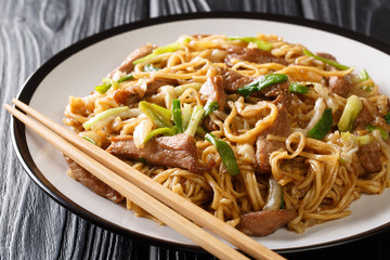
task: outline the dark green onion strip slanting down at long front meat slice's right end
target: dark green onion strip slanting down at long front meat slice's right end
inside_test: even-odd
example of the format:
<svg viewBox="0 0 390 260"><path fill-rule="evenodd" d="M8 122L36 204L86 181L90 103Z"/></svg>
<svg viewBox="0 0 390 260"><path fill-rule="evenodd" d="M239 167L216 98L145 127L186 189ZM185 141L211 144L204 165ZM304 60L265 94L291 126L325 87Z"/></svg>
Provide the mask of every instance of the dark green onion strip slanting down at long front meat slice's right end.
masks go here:
<svg viewBox="0 0 390 260"><path fill-rule="evenodd" d="M231 176L236 176L239 173L238 165L233 153L233 150L229 144L220 139L218 139L212 133L207 133L205 139L216 145L218 153L221 156L223 166L226 168L226 171Z"/></svg>

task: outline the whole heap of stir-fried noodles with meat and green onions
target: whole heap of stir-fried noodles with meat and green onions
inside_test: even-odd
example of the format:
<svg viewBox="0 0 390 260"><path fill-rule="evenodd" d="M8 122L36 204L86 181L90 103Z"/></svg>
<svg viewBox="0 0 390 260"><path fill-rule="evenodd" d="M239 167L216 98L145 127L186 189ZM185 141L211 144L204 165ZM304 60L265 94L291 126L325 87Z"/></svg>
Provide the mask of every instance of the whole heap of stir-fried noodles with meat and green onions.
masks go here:
<svg viewBox="0 0 390 260"><path fill-rule="evenodd" d="M282 219L278 225L287 222L302 233L349 216L349 205L362 193L380 194L388 185L390 155L389 99L375 81L366 72L329 65L336 62L329 54L304 50L264 35L181 36L167 47L148 44L90 95L70 96L64 122L233 226L242 229L249 212L278 211L282 217L270 214L271 222ZM282 79L242 91L265 75ZM211 103L218 108L204 115ZM113 109L118 107L126 109ZM98 117L105 112L110 113ZM207 133L229 144L238 174L224 165L226 155ZM164 146L183 134L191 136L178 141L184 152ZM123 143L132 145L131 153ZM156 145L157 152L148 151ZM171 152L177 161L147 157ZM153 218L126 199L136 216ZM249 234L273 232L245 225Z"/></svg>

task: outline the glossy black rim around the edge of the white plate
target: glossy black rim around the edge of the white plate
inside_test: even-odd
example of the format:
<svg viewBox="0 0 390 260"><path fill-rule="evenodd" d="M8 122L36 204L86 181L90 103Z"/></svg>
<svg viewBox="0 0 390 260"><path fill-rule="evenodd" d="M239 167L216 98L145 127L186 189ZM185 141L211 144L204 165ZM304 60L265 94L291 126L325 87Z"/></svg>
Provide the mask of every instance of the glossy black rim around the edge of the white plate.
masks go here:
<svg viewBox="0 0 390 260"><path fill-rule="evenodd" d="M123 25L119 25L109 29L105 29L98 34L91 35L81 39L70 46L64 48L53 56L51 56L48 61L46 61L42 65L36 69L30 77L23 83L18 94L16 95L18 100L29 104L35 91L38 89L40 82L62 62L67 60L73 54L82 51L83 49L98 43L102 40L108 39L110 37L120 35L122 32L131 31L134 29L140 29L147 26L166 24L170 22L180 22L180 21L194 21L194 20L206 20L206 18L231 18L231 20L256 20L256 21L270 21L270 22L280 22L280 23L288 23L294 25L299 25L308 28L314 28L326 32L332 32L335 35L339 35L349 39L353 39L358 42L362 42L366 46L373 47L376 50L385 52L390 55L390 44L387 44L380 40L374 39L366 35L363 35L358 31L353 31L347 28L342 28L336 25L326 24L324 22L307 20L302 17L281 15L281 14L269 14L269 13L257 13L257 12L208 12L208 13L190 13L190 14L177 14L177 15L167 15L160 17L146 18L138 22L131 22ZM25 126L11 117L11 138L13 148L16 153L16 156L22 164L24 170L29 176L29 178L46 193L48 194L54 202L60 204L65 209L75 213L76 216L87 220L90 223L93 223L104 230L110 231L115 234L122 235L130 238L141 238L146 240L147 243L161 246L165 248L179 249L179 250L187 250L195 252L205 252L203 248L196 245L187 245L177 242L167 242L161 238L156 238L150 235L145 235L135 231L123 229L108 220L105 220L91 211L82 208L77 205L75 202L67 198L64 194L62 194L53 184L51 184L47 178L42 174L39 168L35 165L34 159L28 151L27 142L26 142L26 131ZM372 229L366 232L362 232L352 236L348 236L344 238L340 238L333 242L320 243L310 246L302 247L294 247L294 248L280 248L275 249L275 251L280 253L290 253L290 252L300 252L315 249L323 249L328 247L335 247L342 244L352 243L355 240L360 240L369 236L374 236L385 231L390 230L390 221L380 226Z"/></svg>

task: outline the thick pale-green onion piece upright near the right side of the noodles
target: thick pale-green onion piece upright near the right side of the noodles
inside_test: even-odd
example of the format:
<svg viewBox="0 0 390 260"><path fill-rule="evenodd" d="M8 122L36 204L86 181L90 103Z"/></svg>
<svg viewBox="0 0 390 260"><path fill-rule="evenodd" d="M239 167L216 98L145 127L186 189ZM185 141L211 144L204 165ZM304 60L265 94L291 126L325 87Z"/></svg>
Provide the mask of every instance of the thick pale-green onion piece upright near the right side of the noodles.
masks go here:
<svg viewBox="0 0 390 260"><path fill-rule="evenodd" d="M362 101L356 95L351 95L347 99L347 104L342 110L338 129L340 132L351 131L353 121L356 119L359 113L363 107Z"/></svg>

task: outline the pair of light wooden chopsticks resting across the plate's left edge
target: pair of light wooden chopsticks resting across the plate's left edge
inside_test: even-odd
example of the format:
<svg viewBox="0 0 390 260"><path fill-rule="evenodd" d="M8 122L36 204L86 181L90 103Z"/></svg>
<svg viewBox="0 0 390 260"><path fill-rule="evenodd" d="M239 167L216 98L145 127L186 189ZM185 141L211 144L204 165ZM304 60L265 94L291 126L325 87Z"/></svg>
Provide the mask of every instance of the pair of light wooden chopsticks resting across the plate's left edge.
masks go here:
<svg viewBox="0 0 390 260"><path fill-rule="evenodd" d="M54 147L93 173L101 181L118 191L121 195L130 198L134 204L219 259L248 259L220 238L236 246L239 250L255 259L285 259L186 200L184 197L153 181L117 157L52 121L23 102L13 99L12 103L30 117L9 104L4 104L4 108ZM200 226L218 235L220 238Z"/></svg>

